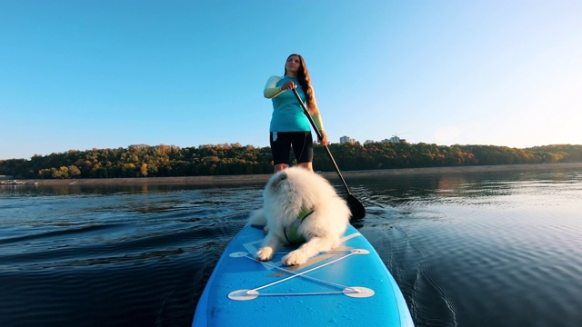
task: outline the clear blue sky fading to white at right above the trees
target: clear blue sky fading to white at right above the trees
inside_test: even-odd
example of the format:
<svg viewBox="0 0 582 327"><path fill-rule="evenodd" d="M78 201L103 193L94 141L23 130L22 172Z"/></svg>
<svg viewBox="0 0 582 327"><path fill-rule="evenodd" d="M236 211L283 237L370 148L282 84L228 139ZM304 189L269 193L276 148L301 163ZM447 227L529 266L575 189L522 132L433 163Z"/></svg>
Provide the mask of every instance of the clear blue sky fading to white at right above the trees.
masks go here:
<svg viewBox="0 0 582 327"><path fill-rule="evenodd" d="M582 2L0 0L0 159L268 145L306 59L326 133L582 144Z"/></svg>

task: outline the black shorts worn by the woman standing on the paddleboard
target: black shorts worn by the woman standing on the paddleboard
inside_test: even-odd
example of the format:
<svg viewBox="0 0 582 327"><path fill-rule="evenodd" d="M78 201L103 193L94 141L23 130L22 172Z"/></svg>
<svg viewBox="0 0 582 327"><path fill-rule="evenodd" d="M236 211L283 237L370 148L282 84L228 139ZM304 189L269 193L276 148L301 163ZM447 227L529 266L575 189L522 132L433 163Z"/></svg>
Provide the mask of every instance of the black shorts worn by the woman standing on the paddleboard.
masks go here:
<svg viewBox="0 0 582 327"><path fill-rule="evenodd" d="M289 164L289 151L293 152L297 163L313 162L313 137L311 132L271 132L271 152L275 164Z"/></svg>

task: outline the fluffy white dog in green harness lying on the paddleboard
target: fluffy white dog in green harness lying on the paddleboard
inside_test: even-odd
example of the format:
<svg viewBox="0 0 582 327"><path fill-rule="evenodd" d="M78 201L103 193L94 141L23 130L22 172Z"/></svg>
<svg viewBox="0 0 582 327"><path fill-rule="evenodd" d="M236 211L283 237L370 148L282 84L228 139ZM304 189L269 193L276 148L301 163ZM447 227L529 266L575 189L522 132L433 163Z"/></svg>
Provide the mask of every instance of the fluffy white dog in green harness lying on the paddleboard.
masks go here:
<svg viewBox="0 0 582 327"><path fill-rule="evenodd" d="M283 263L306 263L339 245L350 214L346 201L322 176L300 167L276 173L263 191L263 208L249 218L250 224L265 225L266 236L256 259L269 261L283 245L303 243Z"/></svg>

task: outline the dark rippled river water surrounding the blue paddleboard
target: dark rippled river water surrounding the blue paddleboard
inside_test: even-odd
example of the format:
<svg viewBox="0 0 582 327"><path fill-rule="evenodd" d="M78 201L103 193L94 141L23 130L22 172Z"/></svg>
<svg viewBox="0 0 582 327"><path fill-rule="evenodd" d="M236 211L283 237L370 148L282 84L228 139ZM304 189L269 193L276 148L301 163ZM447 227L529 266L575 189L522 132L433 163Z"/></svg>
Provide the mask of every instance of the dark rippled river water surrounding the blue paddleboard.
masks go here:
<svg viewBox="0 0 582 327"><path fill-rule="evenodd" d="M416 326L582 326L582 171L347 183ZM261 187L1 186L0 326L189 325Z"/></svg>

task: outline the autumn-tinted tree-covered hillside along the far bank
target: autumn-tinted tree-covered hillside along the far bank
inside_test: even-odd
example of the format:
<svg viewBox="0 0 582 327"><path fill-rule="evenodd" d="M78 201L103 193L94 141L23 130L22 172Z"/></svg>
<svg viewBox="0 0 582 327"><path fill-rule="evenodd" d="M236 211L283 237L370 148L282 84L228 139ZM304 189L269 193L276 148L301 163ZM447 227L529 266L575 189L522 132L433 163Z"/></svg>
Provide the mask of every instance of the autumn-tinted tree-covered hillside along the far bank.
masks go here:
<svg viewBox="0 0 582 327"><path fill-rule="evenodd" d="M445 167L463 165L582 162L582 145L527 149L494 145L330 144L342 170ZM293 156L292 156L293 157ZM314 169L335 171L325 149L314 148ZM16 179L119 178L272 173L269 147L208 144L130 145L127 148L71 150L35 155L30 160L0 160L0 175Z"/></svg>

